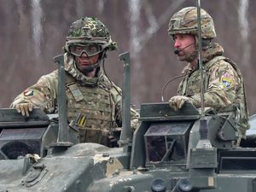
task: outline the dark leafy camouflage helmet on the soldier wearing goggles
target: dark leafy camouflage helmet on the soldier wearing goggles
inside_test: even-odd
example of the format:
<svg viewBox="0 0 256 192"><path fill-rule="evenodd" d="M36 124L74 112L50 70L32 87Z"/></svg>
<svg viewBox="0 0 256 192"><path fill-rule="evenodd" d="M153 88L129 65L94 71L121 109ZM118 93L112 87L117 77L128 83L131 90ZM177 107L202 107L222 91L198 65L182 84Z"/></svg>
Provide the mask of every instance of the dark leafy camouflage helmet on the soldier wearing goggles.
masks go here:
<svg viewBox="0 0 256 192"><path fill-rule="evenodd" d="M94 17L83 17L70 26L65 50L70 52L70 46L81 44L97 44L100 46L98 53L103 50L117 49L117 44L112 41L108 28Z"/></svg>

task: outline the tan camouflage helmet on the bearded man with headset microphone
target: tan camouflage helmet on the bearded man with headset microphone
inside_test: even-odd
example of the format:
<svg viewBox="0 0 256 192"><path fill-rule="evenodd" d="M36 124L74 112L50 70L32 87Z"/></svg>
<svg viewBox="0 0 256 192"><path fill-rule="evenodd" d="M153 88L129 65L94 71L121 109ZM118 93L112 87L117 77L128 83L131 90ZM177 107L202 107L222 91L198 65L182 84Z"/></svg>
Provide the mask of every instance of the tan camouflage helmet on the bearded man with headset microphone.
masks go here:
<svg viewBox="0 0 256 192"><path fill-rule="evenodd" d="M197 36L197 8L188 7L179 10L172 16L169 26L169 35L192 34ZM211 15L201 9L201 38L212 39L216 37L214 23Z"/></svg>

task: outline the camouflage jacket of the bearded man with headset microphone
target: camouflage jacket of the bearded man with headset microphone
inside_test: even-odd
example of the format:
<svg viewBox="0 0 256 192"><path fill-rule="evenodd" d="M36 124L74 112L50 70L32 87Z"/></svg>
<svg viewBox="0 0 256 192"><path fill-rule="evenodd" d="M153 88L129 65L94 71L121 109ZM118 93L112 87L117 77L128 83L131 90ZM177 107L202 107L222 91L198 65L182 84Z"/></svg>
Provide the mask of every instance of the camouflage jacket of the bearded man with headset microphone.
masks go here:
<svg viewBox="0 0 256 192"><path fill-rule="evenodd" d="M203 55L205 71L205 106L218 113L235 111L237 128L241 137L249 129L245 88L241 72L236 63L222 56L224 49L212 44ZM184 78L179 84L177 94L194 99L196 108L201 108L200 70L192 70L190 64L183 69Z"/></svg>

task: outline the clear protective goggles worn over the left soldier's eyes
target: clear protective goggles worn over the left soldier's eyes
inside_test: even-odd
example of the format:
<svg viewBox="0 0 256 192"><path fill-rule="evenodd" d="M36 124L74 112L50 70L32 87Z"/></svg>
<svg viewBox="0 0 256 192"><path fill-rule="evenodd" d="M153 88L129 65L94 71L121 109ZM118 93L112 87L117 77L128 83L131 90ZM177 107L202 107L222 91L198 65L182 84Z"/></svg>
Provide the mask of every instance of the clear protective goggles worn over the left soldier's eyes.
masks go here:
<svg viewBox="0 0 256 192"><path fill-rule="evenodd" d="M102 52L102 46L99 44L72 44L69 46L69 50L75 56L81 56L83 53L93 56Z"/></svg>

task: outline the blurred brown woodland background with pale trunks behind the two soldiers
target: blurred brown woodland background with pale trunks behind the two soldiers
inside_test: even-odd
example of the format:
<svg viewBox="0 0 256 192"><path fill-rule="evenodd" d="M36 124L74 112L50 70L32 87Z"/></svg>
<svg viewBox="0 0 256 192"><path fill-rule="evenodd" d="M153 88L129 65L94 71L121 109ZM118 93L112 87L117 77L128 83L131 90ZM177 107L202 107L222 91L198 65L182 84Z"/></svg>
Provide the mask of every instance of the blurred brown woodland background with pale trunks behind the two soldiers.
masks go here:
<svg viewBox="0 0 256 192"><path fill-rule="evenodd" d="M177 76L185 63L173 54L173 42L167 35L171 16L194 0L0 0L0 108L9 108L15 96L36 83L57 66L55 55L63 53L67 31L74 20L94 16L108 26L117 51L108 52L105 61L108 77L122 86L123 63L118 55L131 54L131 102L160 102L161 90ZM247 90L250 114L256 112L256 1L202 0L201 6L212 15L217 38L225 55L241 68ZM165 90L167 101L176 95L180 79Z"/></svg>

